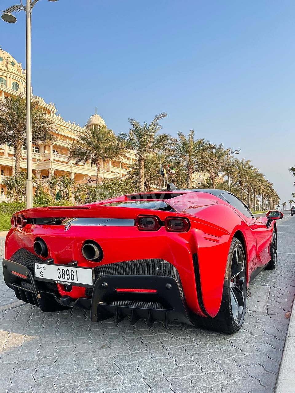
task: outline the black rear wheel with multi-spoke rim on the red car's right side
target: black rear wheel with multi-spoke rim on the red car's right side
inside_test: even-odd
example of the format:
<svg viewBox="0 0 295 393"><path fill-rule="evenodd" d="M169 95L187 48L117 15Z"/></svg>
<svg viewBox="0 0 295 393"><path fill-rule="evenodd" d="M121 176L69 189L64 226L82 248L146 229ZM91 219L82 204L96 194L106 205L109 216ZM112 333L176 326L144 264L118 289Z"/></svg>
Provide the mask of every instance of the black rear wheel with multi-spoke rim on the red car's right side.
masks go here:
<svg viewBox="0 0 295 393"><path fill-rule="evenodd" d="M245 316L246 293L245 253L242 243L234 237L227 258L220 309L214 318L202 318L202 325L228 334L238 332Z"/></svg>

